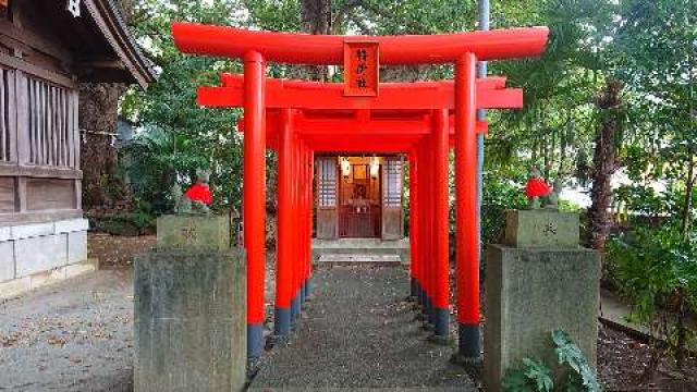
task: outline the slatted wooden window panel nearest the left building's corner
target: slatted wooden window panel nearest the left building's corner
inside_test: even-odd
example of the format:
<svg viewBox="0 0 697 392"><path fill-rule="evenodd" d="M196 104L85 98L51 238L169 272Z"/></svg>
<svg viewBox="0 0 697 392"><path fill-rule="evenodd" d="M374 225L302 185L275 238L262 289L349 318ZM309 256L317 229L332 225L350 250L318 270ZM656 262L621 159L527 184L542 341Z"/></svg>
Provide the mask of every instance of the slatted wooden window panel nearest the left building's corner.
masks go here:
<svg viewBox="0 0 697 392"><path fill-rule="evenodd" d="M28 78L29 162L39 166L74 166L76 118L71 90Z"/></svg>

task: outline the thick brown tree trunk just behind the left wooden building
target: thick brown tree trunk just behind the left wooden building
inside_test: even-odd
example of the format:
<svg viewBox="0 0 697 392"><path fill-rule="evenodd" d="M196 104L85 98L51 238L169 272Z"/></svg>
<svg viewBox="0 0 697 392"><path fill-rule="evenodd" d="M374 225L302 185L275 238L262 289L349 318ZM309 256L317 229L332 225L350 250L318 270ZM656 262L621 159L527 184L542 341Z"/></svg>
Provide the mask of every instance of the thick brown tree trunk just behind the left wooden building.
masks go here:
<svg viewBox="0 0 697 392"><path fill-rule="evenodd" d="M117 132L122 84L84 83L80 86L81 167L83 170L83 205L85 209L112 207L127 198L117 177Z"/></svg>

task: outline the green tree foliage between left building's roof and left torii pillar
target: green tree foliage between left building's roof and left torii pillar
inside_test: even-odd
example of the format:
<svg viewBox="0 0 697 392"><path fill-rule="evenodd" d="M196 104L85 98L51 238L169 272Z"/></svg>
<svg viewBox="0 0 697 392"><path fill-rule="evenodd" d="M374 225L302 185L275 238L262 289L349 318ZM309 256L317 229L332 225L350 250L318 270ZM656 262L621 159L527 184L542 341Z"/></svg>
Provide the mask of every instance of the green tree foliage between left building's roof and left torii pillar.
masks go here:
<svg viewBox="0 0 697 392"><path fill-rule="evenodd" d="M200 108L196 89L217 85L220 72L239 72L234 61L184 56L171 38L173 20L212 24L241 24L237 1L179 2L139 0L134 5L133 30L159 71L146 91L130 90L121 114L140 124L133 144L124 149L122 170L138 200L154 213L172 206L171 186L184 188L195 170L211 170L215 207L240 208L242 137L240 110Z"/></svg>

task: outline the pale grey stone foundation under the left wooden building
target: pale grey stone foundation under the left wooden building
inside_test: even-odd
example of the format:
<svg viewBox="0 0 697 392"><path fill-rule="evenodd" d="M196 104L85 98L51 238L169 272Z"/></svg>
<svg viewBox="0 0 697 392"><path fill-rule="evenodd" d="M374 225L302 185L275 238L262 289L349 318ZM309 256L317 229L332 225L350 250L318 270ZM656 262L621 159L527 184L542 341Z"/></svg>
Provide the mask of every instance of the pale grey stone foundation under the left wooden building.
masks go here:
<svg viewBox="0 0 697 392"><path fill-rule="evenodd" d="M0 298L95 269L85 219L0 228Z"/></svg>

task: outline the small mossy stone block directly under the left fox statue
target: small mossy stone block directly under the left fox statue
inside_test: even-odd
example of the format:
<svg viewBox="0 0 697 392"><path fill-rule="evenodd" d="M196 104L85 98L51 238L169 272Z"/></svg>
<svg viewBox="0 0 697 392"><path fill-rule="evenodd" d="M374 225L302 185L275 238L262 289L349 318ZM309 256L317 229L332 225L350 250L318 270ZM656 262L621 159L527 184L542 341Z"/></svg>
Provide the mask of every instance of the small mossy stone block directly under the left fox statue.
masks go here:
<svg viewBox="0 0 697 392"><path fill-rule="evenodd" d="M157 219L158 249L230 248L230 217L170 215Z"/></svg>

